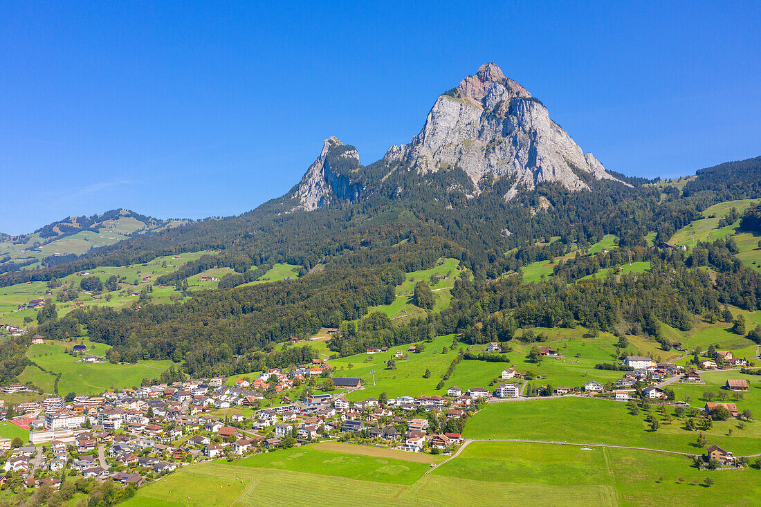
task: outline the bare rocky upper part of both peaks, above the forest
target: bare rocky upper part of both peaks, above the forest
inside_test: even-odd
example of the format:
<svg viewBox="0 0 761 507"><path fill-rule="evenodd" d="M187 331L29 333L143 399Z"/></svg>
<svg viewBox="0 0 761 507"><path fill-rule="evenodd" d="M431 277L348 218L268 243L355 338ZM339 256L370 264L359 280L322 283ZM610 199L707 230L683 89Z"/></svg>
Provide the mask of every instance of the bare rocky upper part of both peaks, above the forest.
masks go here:
<svg viewBox="0 0 761 507"><path fill-rule="evenodd" d="M310 211L335 199L360 199L395 171L428 174L452 167L472 181L471 189L462 189L469 196L480 193L484 178L509 178L506 200L540 183L568 190L589 190L595 180L630 186L605 171L594 155L584 154L542 102L493 62L441 94L419 134L409 144L391 146L382 163L380 180L362 181L357 151L331 137L291 197Z"/></svg>

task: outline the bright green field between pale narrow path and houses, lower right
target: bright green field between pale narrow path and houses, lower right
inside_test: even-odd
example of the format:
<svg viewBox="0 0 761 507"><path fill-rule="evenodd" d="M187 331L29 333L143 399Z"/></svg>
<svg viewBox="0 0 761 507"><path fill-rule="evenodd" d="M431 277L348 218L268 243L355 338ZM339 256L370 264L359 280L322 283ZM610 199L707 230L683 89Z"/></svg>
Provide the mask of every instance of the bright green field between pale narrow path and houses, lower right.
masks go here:
<svg viewBox="0 0 761 507"><path fill-rule="evenodd" d="M740 405L741 410L741 405ZM653 411L653 413L655 413ZM463 432L466 438L525 438L584 444L633 445L635 447L700 453L697 432L683 429L683 419L661 423L652 432L645 411L629 413L626 403L592 398L564 397L552 400L492 403L476 413ZM709 445L716 444L736 455L761 452L761 423L715 422L704 432ZM733 429L732 435L728 430Z"/></svg>

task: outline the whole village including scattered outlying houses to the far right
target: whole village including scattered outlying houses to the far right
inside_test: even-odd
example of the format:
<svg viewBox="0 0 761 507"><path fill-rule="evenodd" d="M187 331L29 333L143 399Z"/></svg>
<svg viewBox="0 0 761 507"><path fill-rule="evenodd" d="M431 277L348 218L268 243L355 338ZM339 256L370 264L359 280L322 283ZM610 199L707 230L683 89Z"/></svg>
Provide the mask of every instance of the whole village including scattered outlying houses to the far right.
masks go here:
<svg viewBox="0 0 761 507"><path fill-rule="evenodd" d="M34 336L33 340L39 343L43 339ZM84 345L75 344L73 349L83 362L99 360L87 356ZM368 349L367 354L387 350ZM486 347L487 352L496 350L498 343ZM407 352L416 353L416 346L409 346ZM539 347L539 352L543 357L559 356L558 351L546 346ZM396 351L400 357L403 353ZM733 364L731 352L717 354L722 362ZM487 403L570 396L683 407L687 403L675 400L667 386L674 381L702 382L699 371L683 371L682 366L657 363L644 356L627 356L619 367L626 371L615 384L590 380L575 387L537 386L536 391L524 395L527 381L540 378L507 367L493 389L451 385L446 396L387 398L383 393L377 399L351 402L346 394L364 389L361 378L334 376L324 359L314 359L312 364L298 365L291 371L269 368L252 374L253 380L189 379L95 397L79 395L65 400L56 396L15 403L8 407L8 413L14 414L10 421L29 430L29 445L21 438L0 439L0 450L5 453L0 458L5 471L0 486L55 488L63 474L139 486L192 462L234 461L320 440L452 454L463 444L461 433L466 420ZM305 383L311 388L304 396L288 396ZM706 403L693 415L705 420L716 414L743 419L747 413L738 410L736 403L728 403L728 398L734 394L740 400L737 393L747 389L747 381L729 379L721 393L724 396L716 403ZM27 390L23 384L11 384L2 393ZM281 404L260 408L272 401L272 394L279 396ZM716 445L699 460L707 467L742 466L731 451Z"/></svg>

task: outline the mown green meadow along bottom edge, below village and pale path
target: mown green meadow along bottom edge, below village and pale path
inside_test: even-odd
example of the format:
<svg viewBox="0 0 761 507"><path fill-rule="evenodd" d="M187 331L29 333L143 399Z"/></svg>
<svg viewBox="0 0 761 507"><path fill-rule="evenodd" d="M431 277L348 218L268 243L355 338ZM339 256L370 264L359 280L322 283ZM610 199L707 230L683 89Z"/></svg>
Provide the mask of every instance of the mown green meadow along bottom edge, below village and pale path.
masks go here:
<svg viewBox="0 0 761 507"><path fill-rule="evenodd" d="M321 445L193 464L139 489L124 505L756 505L761 494L755 469L699 471L676 454L520 442L473 442L411 483L376 482L368 476L377 470L413 462L379 463L374 448L349 450L359 446L326 454ZM368 461L342 466L358 456ZM703 485L708 476L715 481L710 487Z"/></svg>

